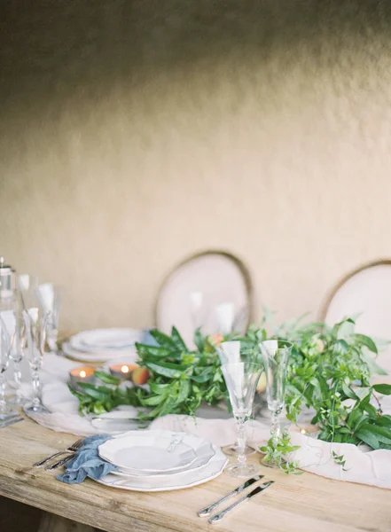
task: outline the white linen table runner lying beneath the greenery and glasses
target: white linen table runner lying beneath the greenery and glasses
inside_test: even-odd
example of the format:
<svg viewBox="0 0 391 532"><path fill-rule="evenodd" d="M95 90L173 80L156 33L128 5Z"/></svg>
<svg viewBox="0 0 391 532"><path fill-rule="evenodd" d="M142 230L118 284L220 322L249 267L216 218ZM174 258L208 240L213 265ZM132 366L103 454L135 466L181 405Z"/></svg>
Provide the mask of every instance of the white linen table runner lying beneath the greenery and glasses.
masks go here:
<svg viewBox="0 0 391 532"><path fill-rule="evenodd" d="M107 429L94 426L94 421L82 418L78 413L78 400L70 393L66 385L68 372L80 365L57 355L43 357L43 404L51 412L31 416L37 423L59 432L77 435L91 435ZM28 385L23 391L31 393ZM391 414L391 396L382 399L382 409ZM135 418L137 409L123 406L117 409L119 416ZM110 412L112 414L112 412ZM131 426L129 426L129 429ZM150 428L165 428L184 431L204 437L216 445L229 445L236 441L236 426L233 419L192 419L190 416L168 415L155 419ZM391 450L371 450L358 448L348 443L328 443L301 434L297 427L291 426L290 435L293 445L300 445L289 458L297 460L301 469L310 473L332 478L338 481L358 482L391 489ZM254 420L248 423L248 442L254 447L264 445L269 439L270 426ZM346 464L343 471L332 459L332 451L343 455Z"/></svg>

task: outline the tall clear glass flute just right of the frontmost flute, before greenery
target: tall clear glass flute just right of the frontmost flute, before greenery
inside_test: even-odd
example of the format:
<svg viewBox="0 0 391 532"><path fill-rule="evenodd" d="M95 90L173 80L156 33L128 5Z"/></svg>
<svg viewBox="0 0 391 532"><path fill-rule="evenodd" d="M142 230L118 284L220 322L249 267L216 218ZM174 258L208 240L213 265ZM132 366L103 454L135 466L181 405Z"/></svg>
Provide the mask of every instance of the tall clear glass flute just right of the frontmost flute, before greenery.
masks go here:
<svg viewBox="0 0 391 532"><path fill-rule="evenodd" d="M266 372L266 397L271 415L270 436L276 444L282 436L279 415L285 405L286 369L293 344L286 340L265 340L260 342L259 347ZM262 465L278 467L273 460L265 458Z"/></svg>

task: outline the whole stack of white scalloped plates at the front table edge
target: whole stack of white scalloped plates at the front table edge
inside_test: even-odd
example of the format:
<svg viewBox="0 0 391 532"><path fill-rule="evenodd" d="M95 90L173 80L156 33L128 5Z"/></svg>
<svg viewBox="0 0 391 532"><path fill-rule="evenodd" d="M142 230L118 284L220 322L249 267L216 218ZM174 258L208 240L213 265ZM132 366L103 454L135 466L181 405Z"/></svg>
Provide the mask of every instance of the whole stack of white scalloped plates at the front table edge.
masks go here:
<svg viewBox="0 0 391 532"><path fill-rule="evenodd" d="M168 430L134 430L98 448L100 458L116 465L99 482L132 491L184 489L211 481L227 458L203 438Z"/></svg>

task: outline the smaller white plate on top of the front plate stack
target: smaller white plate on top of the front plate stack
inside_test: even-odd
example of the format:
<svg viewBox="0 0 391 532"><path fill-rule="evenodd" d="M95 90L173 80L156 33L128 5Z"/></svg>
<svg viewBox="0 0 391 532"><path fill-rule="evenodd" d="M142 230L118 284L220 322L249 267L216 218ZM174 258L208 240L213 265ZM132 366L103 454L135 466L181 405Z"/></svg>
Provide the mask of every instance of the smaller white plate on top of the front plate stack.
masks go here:
<svg viewBox="0 0 391 532"><path fill-rule="evenodd" d="M166 473L184 468L197 458L195 450L184 442L186 434L170 431L136 430L103 443L101 458L129 473Z"/></svg>

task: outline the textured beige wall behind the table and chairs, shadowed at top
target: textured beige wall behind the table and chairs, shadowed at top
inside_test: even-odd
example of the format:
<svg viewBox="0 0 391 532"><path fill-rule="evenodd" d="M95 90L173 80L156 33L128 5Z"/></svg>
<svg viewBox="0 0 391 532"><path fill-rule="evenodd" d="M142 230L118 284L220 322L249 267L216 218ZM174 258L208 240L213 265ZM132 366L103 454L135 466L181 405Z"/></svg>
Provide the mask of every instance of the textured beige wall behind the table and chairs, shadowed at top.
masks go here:
<svg viewBox="0 0 391 532"><path fill-rule="evenodd" d="M391 255L388 2L8 4L0 249L63 327L150 325L205 248L282 317Z"/></svg>

